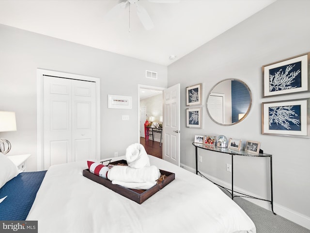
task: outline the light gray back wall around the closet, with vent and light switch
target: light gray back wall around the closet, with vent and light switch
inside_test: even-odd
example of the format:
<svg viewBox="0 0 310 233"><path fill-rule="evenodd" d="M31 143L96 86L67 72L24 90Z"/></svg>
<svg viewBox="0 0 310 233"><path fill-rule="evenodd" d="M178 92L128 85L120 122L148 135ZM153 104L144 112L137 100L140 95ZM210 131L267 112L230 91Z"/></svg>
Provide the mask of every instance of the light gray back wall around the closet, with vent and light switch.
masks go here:
<svg viewBox="0 0 310 233"><path fill-rule="evenodd" d="M100 78L101 158L124 155L137 142L138 84L167 86L166 66L0 25L0 110L16 112L17 124L0 137L12 144L8 155L32 154L28 170L37 167L37 68ZM158 79L145 78L146 69ZM108 109L108 94L132 96L132 109Z"/></svg>

